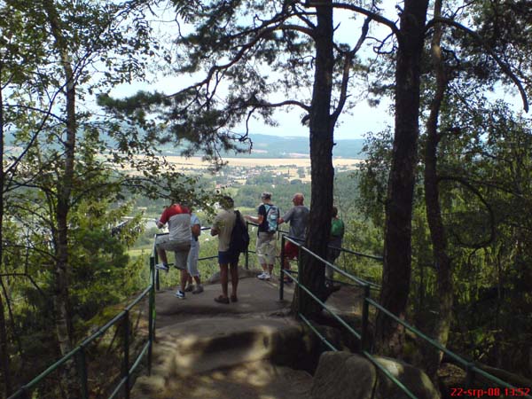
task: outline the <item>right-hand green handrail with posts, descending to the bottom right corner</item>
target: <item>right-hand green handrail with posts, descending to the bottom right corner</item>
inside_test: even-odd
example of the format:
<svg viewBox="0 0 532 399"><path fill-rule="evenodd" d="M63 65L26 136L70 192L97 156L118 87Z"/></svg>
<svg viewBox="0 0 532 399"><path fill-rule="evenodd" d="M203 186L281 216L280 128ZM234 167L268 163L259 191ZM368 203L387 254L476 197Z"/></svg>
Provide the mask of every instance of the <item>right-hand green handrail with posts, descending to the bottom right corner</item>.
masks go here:
<svg viewBox="0 0 532 399"><path fill-rule="evenodd" d="M509 389L517 389L517 387L513 387L511 384L508 384L507 382L503 381L502 379L498 379L496 376L491 375L488 372L484 372L480 368L476 367L473 363L467 362L464 358L462 358L462 357L458 356L457 354L451 352L449 349L444 348L440 342L429 338L423 332L420 332L418 329L416 329L412 325L409 325L404 320L400 319L399 317L396 317L389 310L387 310L384 307L382 307L377 301L373 301L370 298L370 287L371 287L371 285L373 283L367 282L367 281L365 281L363 279L360 279L360 278L356 278L355 276L351 276L347 272L343 272L343 270L338 269L332 263L325 261L325 259L323 259L322 257L320 257L317 254L314 254L312 251L310 251L309 248L303 246L301 243L297 242L296 240L291 239L290 237L287 237L286 235L283 235L283 237L282 237L282 244L281 244L282 245L282 247L281 247L281 252L282 253L284 253L283 248L284 248L285 240L288 240L288 241L292 242L293 245L298 246L299 250L300 250L300 255L301 255L301 250L305 251L307 254L313 256L314 258L316 258L320 262L325 263L325 265L332 267L334 270L340 272L343 276L352 279L353 281L356 282L356 284L358 284L359 286L362 286L364 288L363 315L362 315L362 317L363 317L363 320L362 320L362 333L358 333L358 332L354 331L349 325L347 325L347 323L343 319L341 319L341 317L339 317L338 315L334 314L334 312L332 312L331 309L328 309L325 306L325 303L323 301L320 301L316 297L316 295L314 295L313 293L310 292L309 288L307 288L306 286L303 286L301 284L300 279L299 279L299 276L301 276L301 256L298 256L298 278L293 278L292 274L288 270L283 270L283 268L281 267L281 276L284 274L285 276L288 276L289 278L291 278L296 283L298 288L301 288L305 293L309 294L309 297L312 298L313 301L317 301L317 303L319 303L325 310L327 310L329 313L331 313L332 317L334 317L336 320L338 320L340 322L341 325L343 325L344 327L346 327L348 329L348 332L351 332L351 334L355 335L355 337L357 339L361 340L362 341L362 350L361 350L362 354L365 357L367 357L372 362L372 364L374 364L376 367L378 367L379 370L381 372L383 372L387 376L387 378L391 379L395 383L395 385L397 387L399 387L404 392L404 394L408 395L408 397L410 397L411 399L417 399L417 396L414 395L407 387L404 387L404 385L399 380L395 379L395 377L392 374L387 372L387 370L381 364L379 364L379 362L375 359L375 357L372 356L371 352L369 350L367 350L367 348L366 348L368 346L367 345L368 344L367 325L369 324L369 311L368 311L369 305L371 305L372 307L374 307L376 309L379 309L387 317L390 317L393 320L395 320L395 322L403 325L405 328L407 328L409 331L413 332L416 336L418 336L422 340L426 340L426 342L428 342L434 348L442 351L447 356L452 357L453 359L455 359L458 362L458 364L461 364L461 365L465 366L465 370L466 370L466 373L467 373L466 374L466 379L470 383L473 383L473 377L474 377L475 374L478 373L482 377L484 377L485 379L489 379L491 382L494 382L499 387L505 387L505 388L509 388ZM347 252L350 252L350 251L347 251ZM280 278L280 284L279 284L280 293L279 293L279 296L280 296L281 300L283 298L283 289L284 289L283 280L284 280L284 278ZM319 334L319 332L317 332L316 328L314 328L314 326L310 324L309 320L301 314L301 311L298 311L298 315L301 317L301 320L306 325L309 325L309 327L311 328L311 330L313 332L317 333L317 335L320 338L320 340L325 340L325 343L326 343L326 345L329 348L332 348L332 350L336 350L336 348L334 348L330 342L326 341L325 337L323 337L321 334ZM532 396L530 396L530 395L521 395L521 397L526 397L528 399L532 399Z"/></svg>

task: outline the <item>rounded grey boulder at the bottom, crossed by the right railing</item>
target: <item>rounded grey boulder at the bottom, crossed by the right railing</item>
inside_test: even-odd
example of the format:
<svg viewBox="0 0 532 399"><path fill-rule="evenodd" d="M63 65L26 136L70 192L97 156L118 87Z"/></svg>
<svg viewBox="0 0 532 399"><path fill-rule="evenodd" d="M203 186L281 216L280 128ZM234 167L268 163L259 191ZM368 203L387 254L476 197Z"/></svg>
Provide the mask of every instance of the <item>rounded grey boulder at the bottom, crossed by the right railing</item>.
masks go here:
<svg viewBox="0 0 532 399"><path fill-rule="evenodd" d="M439 399L425 372L410 364L376 356L377 362L418 399ZM408 396L367 358L348 352L325 352L312 383L312 399L403 399Z"/></svg>

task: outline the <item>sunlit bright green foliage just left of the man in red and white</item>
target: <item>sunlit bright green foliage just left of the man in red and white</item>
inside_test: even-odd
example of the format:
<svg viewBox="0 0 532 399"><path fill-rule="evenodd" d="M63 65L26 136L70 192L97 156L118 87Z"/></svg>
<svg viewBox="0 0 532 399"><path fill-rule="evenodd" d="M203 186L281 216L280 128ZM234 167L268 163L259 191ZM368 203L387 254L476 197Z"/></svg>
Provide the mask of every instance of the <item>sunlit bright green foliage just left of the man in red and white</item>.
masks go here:
<svg viewBox="0 0 532 399"><path fill-rule="evenodd" d="M106 201L90 201L81 203L71 215L71 300L74 314L83 320L145 284L138 273L142 265L129 262L126 254L142 226L140 215L118 234L111 233L111 227L120 223L129 209L125 206L111 210Z"/></svg>

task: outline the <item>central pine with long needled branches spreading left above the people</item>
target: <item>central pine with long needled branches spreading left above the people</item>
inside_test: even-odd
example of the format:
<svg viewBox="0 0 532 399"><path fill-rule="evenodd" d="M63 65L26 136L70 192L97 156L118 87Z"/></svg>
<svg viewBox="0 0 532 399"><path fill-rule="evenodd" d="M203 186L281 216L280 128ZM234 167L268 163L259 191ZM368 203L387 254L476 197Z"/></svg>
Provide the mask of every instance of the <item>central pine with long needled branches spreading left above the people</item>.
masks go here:
<svg viewBox="0 0 532 399"><path fill-rule="evenodd" d="M186 139L189 149L216 160L220 150L235 148L231 140L247 140L250 121L259 115L271 120L277 107L298 107L309 123L312 207L306 245L325 257L327 226L332 209L332 145L334 126L348 101L356 52L362 46L370 20L354 45L336 43L332 1L320 4L277 1L174 1L179 24L175 73L205 72L205 78L168 96L138 93L125 101L103 98L109 106L145 126L145 112L155 113L166 125L164 138ZM199 12L200 11L200 12ZM221 61L218 61L221 60ZM309 68L309 66L311 66ZM271 78L269 74L274 74ZM312 87L309 96L305 88ZM228 88L228 90L224 90ZM282 90L289 99L275 101ZM299 90L295 93L293 90ZM223 98L220 100L219 98ZM159 113L154 106L164 106ZM136 118L135 110L140 114ZM244 121L246 134L232 129ZM153 127L152 127L153 128ZM325 299L324 267L304 254L301 282ZM300 302L297 304L297 302ZM315 315L321 307L306 295L296 295L295 307Z"/></svg>

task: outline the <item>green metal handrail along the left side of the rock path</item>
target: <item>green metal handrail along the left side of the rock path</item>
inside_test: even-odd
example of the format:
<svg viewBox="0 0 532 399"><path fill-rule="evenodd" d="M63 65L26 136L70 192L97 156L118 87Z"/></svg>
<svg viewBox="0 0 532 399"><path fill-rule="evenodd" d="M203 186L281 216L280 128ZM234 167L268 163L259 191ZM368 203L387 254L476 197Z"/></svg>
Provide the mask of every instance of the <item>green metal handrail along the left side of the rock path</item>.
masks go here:
<svg viewBox="0 0 532 399"><path fill-rule="evenodd" d="M124 385L126 386L126 393L125 397L126 399L129 399L129 379L131 374L135 371L137 368L137 365L140 364L140 361L144 358L146 353L148 354L148 373L151 373L151 367L152 367L152 347L153 347L153 340L154 340L154 326L155 326L155 296L154 296L154 263L150 262L150 284L146 286L145 290L137 295L137 298L135 298L133 301L129 303L126 308L124 308L118 315L113 317L111 320L109 320L106 325L103 325L98 328L97 332L94 332L90 335L90 337L82 340L80 344L78 344L74 349L72 349L70 352L68 352L65 356L61 357L57 362L54 364L51 364L46 370L38 374L34 379L29 381L27 384L20 387L18 391L16 391L14 394L8 397L8 399L19 399L19 398L28 398L29 397L29 391L38 385L43 379L48 377L51 372L55 372L59 366L66 364L66 362L70 361L74 358L74 356L78 356L78 367L79 367L79 379L80 379L80 388L81 388L81 394L82 398L86 399L89 397L89 388L88 388L88 380L87 380L87 364L86 364L86 358L85 358L85 348L92 343L94 340L97 340L101 335L106 333L107 330L109 330L113 325L118 324L123 320L124 325L124 332L123 332L123 364L122 364L122 376L121 381L119 385L114 389L113 394L109 396L109 399L113 398L118 392L120 392L121 387ZM129 366L129 312L131 309L133 309L134 306L138 304L138 302L142 301L146 295L149 295L149 306L148 306L148 319L149 319L149 327L148 327L148 340L143 346L143 348L140 351L140 354L136 357L134 360L134 363L132 366Z"/></svg>

